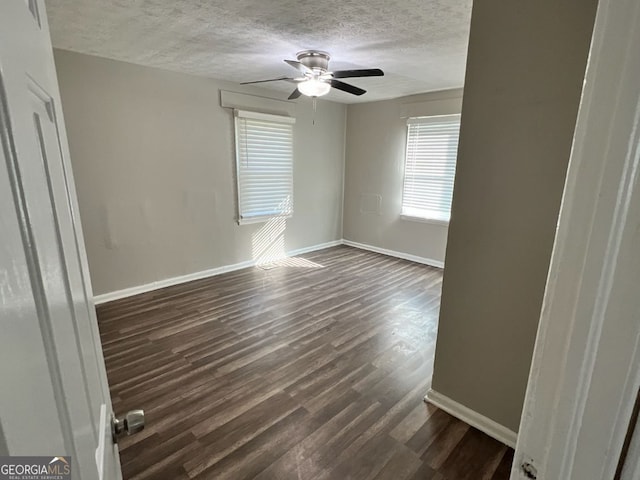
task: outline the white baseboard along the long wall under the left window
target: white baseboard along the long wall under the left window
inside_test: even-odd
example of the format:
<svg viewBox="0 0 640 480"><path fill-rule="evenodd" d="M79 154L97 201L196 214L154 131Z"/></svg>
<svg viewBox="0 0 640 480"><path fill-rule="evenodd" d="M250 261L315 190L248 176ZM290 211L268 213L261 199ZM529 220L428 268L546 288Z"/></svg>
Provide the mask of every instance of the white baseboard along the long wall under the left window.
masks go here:
<svg viewBox="0 0 640 480"><path fill-rule="evenodd" d="M286 253L287 257L294 257L296 255L302 255L304 253L314 252L316 250L323 250L329 247L335 247L342 245L342 240L334 240L331 242L320 243L318 245L311 245L309 247L298 248ZM103 293L93 297L93 303L100 305L102 303L112 302L114 300L120 300L122 298L132 297L141 293L151 292L160 288L171 287L173 285L179 285L181 283L191 282L193 280L200 280L202 278L213 277L215 275L221 275L223 273L233 272L235 270L242 270L243 268L254 267L257 264L256 260L247 260L240 263L234 263L232 265L224 265L222 267L211 268L200 272L189 273L187 275L181 275L179 277L167 278L164 280L158 280L156 282L146 283L144 285L138 285L136 287L125 288L123 290L117 290L115 292Z"/></svg>

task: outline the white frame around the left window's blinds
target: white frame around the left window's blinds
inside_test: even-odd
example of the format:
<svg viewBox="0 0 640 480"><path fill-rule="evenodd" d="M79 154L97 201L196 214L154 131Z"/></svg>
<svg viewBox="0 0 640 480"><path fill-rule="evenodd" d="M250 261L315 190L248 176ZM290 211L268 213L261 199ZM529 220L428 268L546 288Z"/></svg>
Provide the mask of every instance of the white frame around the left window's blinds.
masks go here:
<svg viewBox="0 0 640 480"><path fill-rule="evenodd" d="M295 157L294 157L294 130L292 127L291 132L291 185L290 185L290 196L291 203L290 208L286 212L274 212L273 214L267 215L252 215L252 216L243 216L242 211L242 174L241 174L241 161L243 160L240 156L240 130L239 130L239 121L240 119L254 119L254 120L262 120L262 121L270 121L273 123L280 124L290 124L294 125L296 119L294 117L289 117L286 115L273 115L269 113L262 112L254 112L250 110L240 110L234 109L234 145L235 145L235 174L236 174L236 222L238 225L247 225L253 223L265 223L273 218L291 218L293 216L293 190L294 190L294 167L295 167Z"/></svg>

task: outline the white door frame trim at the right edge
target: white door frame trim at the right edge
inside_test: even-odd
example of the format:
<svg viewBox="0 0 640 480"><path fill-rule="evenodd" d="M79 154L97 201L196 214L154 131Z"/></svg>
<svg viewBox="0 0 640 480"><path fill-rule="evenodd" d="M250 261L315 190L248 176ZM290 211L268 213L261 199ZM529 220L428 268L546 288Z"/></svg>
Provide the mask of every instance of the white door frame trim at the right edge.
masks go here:
<svg viewBox="0 0 640 480"><path fill-rule="evenodd" d="M629 428L640 388L637 45L640 3L600 0L512 479L532 478L529 463L538 479L611 480Z"/></svg>

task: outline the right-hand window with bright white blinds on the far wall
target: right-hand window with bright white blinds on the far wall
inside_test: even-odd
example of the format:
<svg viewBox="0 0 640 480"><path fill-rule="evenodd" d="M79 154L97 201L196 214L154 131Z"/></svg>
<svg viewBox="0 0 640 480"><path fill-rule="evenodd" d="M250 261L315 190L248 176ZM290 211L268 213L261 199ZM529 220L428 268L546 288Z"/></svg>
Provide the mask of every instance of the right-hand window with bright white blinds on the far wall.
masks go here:
<svg viewBox="0 0 640 480"><path fill-rule="evenodd" d="M460 115L407 120L402 216L448 223Z"/></svg>

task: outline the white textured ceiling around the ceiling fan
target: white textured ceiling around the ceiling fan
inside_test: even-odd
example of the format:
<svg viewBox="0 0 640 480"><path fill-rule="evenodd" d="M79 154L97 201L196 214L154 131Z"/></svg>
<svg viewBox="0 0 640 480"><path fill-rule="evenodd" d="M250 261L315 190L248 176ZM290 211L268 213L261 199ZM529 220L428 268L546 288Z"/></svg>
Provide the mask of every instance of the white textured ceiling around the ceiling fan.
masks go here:
<svg viewBox="0 0 640 480"><path fill-rule="evenodd" d="M331 70L382 68L349 79L353 103L461 87L471 0L48 0L55 47L233 82L295 74L282 60L331 54ZM286 98L287 82L262 85Z"/></svg>

